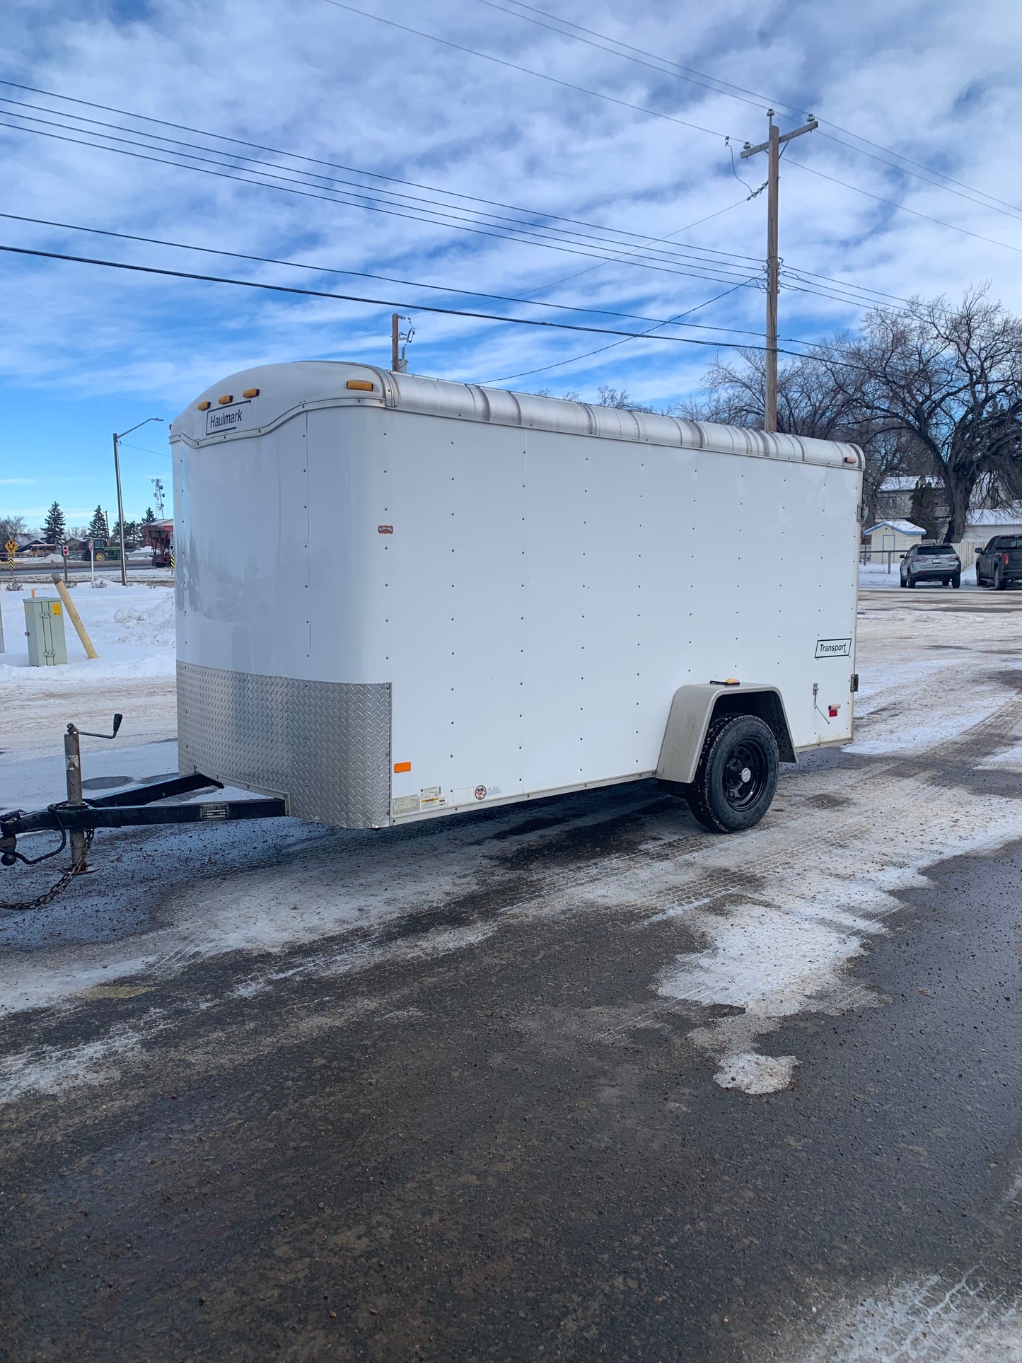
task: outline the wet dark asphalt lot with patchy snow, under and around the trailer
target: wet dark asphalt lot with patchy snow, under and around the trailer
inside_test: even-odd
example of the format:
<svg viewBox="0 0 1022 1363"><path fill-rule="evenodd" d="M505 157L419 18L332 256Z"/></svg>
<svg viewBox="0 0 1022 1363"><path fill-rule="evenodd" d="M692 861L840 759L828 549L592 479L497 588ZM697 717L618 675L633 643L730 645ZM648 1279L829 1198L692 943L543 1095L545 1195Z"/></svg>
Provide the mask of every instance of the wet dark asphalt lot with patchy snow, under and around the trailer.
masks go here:
<svg viewBox="0 0 1022 1363"><path fill-rule="evenodd" d="M1022 1359L1022 597L858 624L741 837L97 838L0 924L7 1356Z"/></svg>

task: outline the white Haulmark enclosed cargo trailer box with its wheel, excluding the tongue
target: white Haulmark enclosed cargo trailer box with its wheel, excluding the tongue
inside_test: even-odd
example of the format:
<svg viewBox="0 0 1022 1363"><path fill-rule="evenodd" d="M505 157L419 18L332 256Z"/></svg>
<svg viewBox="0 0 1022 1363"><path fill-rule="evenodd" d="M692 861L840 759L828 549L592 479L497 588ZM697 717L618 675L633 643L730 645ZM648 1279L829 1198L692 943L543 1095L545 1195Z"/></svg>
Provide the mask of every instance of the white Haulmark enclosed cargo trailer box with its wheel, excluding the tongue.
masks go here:
<svg viewBox="0 0 1022 1363"><path fill-rule="evenodd" d="M346 827L852 737L861 453L358 364L172 425L180 769Z"/></svg>

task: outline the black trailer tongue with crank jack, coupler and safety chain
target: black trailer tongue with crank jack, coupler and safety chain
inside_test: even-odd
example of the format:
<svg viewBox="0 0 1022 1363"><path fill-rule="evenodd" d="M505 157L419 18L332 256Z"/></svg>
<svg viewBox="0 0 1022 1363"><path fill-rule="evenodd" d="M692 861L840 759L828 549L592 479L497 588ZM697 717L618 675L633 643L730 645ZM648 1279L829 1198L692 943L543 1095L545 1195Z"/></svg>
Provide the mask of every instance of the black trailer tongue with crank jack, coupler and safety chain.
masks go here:
<svg viewBox="0 0 1022 1363"><path fill-rule="evenodd" d="M136 785L128 791L86 800L82 795L82 748L80 736L91 739L116 739L123 716L114 714L112 733L93 733L68 724L64 735L64 771L67 799L48 804L45 810L10 810L0 814L0 866L35 866L60 853L71 844L71 864L56 885L45 894L26 904L8 904L0 900L0 909L38 909L67 889L76 875L89 870L86 853L97 829L124 829L134 825L154 823L203 823L228 819L279 819L288 814L286 800L225 800L222 803L202 801L199 804L162 804L196 791L222 791L223 784L213 777L193 773L192 776L169 777L151 785ZM29 857L18 851L18 838L31 833L59 833L60 844L42 856Z"/></svg>

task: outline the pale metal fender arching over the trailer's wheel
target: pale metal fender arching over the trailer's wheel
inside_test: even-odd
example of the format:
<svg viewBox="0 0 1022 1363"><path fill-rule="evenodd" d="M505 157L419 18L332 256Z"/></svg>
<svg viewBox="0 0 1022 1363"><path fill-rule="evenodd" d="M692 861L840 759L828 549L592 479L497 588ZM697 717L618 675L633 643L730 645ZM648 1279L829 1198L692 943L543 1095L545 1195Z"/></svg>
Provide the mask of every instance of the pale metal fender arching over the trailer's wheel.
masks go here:
<svg viewBox="0 0 1022 1363"><path fill-rule="evenodd" d="M660 748L658 781L669 786L692 782L706 741L706 731L718 714L758 716L773 729L781 761L796 761L785 703L775 686L755 682L730 686L706 682L681 686L675 691Z"/></svg>

